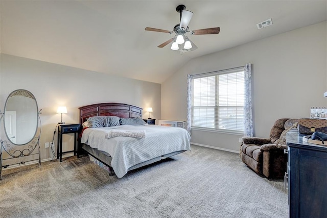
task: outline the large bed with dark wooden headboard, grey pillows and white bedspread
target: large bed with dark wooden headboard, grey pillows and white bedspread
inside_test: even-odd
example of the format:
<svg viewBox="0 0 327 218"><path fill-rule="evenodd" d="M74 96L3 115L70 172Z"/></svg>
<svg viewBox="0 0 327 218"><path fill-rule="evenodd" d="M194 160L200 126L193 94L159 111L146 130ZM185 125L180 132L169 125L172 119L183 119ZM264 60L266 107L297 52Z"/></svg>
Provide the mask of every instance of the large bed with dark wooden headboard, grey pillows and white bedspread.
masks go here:
<svg viewBox="0 0 327 218"><path fill-rule="evenodd" d="M191 149L190 135L185 129L148 125L142 120L140 107L100 103L79 107L79 110L80 124L85 124L87 119L90 124L98 119L111 119L104 127L97 122L84 127L78 146L78 156L86 153L94 157L109 167L110 176L115 174L122 178L129 170ZM119 119L118 125L116 119Z"/></svg>

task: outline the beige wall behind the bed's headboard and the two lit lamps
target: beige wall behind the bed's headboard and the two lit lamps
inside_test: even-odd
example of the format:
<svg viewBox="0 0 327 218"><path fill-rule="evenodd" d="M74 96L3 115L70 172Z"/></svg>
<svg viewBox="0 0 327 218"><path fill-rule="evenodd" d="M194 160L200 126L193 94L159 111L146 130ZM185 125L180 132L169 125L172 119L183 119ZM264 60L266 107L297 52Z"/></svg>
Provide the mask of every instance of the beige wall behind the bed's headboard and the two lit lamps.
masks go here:
<svg viewBox="0 0 327 218"><path fill-rule="evenodd" d="M50 158L45 142L51 142L60 114L58 106L66 106L67 114L62 119L66 123L79 122L78 107L102 103L120 102L139 107L152 107L152 118L160 118L161 85L112 76L103 73L65 67L58 64L31 60L1 54L0 69L0 109L4 110L7 96L16 89L26 89L35 96L42 109L42 134L40 138L41 159ZM148 117L148 112L143 113ZM3 122L1 122L1 129ZM3 130L0 136L4 138ZM63 149L72 150L72 134L63 137ZM57 135L55 135L55 142Z"/></svg>

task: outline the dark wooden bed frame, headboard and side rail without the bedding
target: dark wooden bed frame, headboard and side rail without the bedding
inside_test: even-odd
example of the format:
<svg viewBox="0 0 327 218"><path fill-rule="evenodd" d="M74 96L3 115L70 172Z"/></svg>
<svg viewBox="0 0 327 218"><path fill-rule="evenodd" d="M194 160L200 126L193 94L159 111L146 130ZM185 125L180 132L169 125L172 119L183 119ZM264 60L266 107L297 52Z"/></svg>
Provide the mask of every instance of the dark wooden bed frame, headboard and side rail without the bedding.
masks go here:
<svg viewBox="0 0 327 218"><path fill-rule="evenodd" d="M86 121L87 118L93 116L118 116L121 118L142 117L142 108L123 103L99 103L79 107L80 110L80 124ZM80 139L79 139L80 142ZM113 169L110 165L112 158L103 154L98 149L91 148L87 144L79 143L77 150L77 157L81 154L88 154L110 169L110 176L114 175Z"/></svg>

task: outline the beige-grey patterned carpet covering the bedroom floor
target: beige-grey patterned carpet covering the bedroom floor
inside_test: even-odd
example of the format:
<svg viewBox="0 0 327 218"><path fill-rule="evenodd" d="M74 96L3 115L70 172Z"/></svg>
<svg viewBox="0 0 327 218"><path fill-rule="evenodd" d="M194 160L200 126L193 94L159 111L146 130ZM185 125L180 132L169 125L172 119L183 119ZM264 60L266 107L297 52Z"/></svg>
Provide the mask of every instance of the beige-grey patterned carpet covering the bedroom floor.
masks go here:
<svg viewBox="0 0 327 218"><path fill-rule="evenodd" d="M283 181L192 146L118 179L88 157L4 170L0 217L288 217Z"/></svg>

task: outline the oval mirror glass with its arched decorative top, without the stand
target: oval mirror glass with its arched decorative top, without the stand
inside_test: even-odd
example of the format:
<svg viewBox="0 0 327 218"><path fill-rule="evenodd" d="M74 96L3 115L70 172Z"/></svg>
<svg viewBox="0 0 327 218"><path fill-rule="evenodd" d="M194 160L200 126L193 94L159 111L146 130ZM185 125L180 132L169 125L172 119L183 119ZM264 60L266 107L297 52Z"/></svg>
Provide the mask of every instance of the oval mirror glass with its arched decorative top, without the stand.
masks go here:
<svg viewBox="0 0 327 218"><path fill-rule="evenodd" d="M38 125L38 107L34 95L27 90L15 90L8 96L4 111L4 126L8 140L25 145L33 140Z"/></svg>

